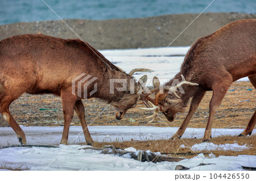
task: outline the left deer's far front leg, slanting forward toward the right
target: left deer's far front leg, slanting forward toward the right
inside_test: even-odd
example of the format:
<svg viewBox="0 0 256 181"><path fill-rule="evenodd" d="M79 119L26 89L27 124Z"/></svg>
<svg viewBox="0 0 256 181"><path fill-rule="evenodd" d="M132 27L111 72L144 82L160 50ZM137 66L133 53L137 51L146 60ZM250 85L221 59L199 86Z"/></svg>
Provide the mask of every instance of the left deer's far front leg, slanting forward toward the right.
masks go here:
<svg viewBox="0 0 256 181"><path fill-rule="evenodd" d="M84 105L82 104L82 100L76 101L75 111L76 111L76 114L79 117L79 120L81 122L82 131L84 132L84 136L85 136L85 141L87 142L88 145L92 145L93 139L90 136L88 127L86 125L85 114L84 114Z"/></svg>

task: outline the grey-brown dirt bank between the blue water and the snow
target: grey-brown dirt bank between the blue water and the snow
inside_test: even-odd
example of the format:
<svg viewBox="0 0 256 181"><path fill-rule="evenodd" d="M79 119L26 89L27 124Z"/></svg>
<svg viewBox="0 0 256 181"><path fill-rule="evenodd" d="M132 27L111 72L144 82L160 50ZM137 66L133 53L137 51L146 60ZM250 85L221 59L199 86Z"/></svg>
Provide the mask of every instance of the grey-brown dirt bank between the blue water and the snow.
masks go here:
<svg viewBox="0 0 256 181"><path fill-rule="evenodd" d="M68 19L65 22L96 49L166 47L199 14L163 15L150 18L88 20ZM201 14L171 46L191 45L201 36L209 35L225 24L238 19L256 18L255 14ZM0 40L28 33L76 39L77 35L60 20L14 23L0 26Z"/></svg>

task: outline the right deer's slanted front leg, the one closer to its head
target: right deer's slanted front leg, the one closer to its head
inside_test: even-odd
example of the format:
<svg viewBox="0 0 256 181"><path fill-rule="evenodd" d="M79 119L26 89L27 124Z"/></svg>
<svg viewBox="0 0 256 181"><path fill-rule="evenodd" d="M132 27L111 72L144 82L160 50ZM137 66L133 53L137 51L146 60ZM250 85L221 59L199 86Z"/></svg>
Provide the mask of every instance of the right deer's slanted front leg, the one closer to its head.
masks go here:
<svg viewBox="0 0 256 181"><path fill-rule="evenodd" d="M201 91L197 92L195 94L195 96L193 96L193 98L191 100L190 108L188 111L188 115L185 117L185 120L180 125L180 128L178 129L178 131L172 136L172 138L171 138L172 140L175 138L181 138L181 136L185 132L185 129L188 126L189 121L191 120L192 116L196 112L201 100L204 98L204 95L205 95L205 91L201 90Z"/></svg>

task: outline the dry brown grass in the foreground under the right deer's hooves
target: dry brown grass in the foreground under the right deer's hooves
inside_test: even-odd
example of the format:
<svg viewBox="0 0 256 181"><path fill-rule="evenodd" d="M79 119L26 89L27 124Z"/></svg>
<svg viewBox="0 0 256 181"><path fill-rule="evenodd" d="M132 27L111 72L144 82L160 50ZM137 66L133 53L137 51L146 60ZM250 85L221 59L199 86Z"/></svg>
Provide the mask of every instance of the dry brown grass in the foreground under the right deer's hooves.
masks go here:
<svg viewBox="0 0 256 181"><path fill-rule="evenodd" d="M94 142L93 146L97 148L102 148L104 145L114 145L116 148L129 148L133 147L137 150L150 150L152 152L160 152L162 154L167 154L172 157L186 157L192 158L199 153L204 153L205 156L208 156L209 153L213 153L218 157L218 155L256 155L256 135L246 136L246 137L237 137L237 136L221 136L212 138L211 142L216 145L221 144L234 144L238 145L247 145L250 149L237 151L225 151L225 150L213 150L213 151L201 151L194 152L189 147L200 144L201 139L190 139L190 138L181 138L177 140L156 140L156 141L125 141L125 142ZM180 148L180 145L189 146L188 148Z"/></svg>

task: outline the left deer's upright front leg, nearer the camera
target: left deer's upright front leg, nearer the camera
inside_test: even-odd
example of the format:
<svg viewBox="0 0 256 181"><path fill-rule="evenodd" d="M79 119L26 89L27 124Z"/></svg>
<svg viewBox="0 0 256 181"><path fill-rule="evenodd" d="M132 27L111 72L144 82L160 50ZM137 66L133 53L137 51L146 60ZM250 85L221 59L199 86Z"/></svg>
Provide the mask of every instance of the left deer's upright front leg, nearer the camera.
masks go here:
<svg viewBox="0 0 256 181"><path fill-rule="evenodd" d="M77 96L71 94L71 90L61 90L62 108L64 114L64 128L60 144L68 144L69 126L73 119Z"/></svg>

